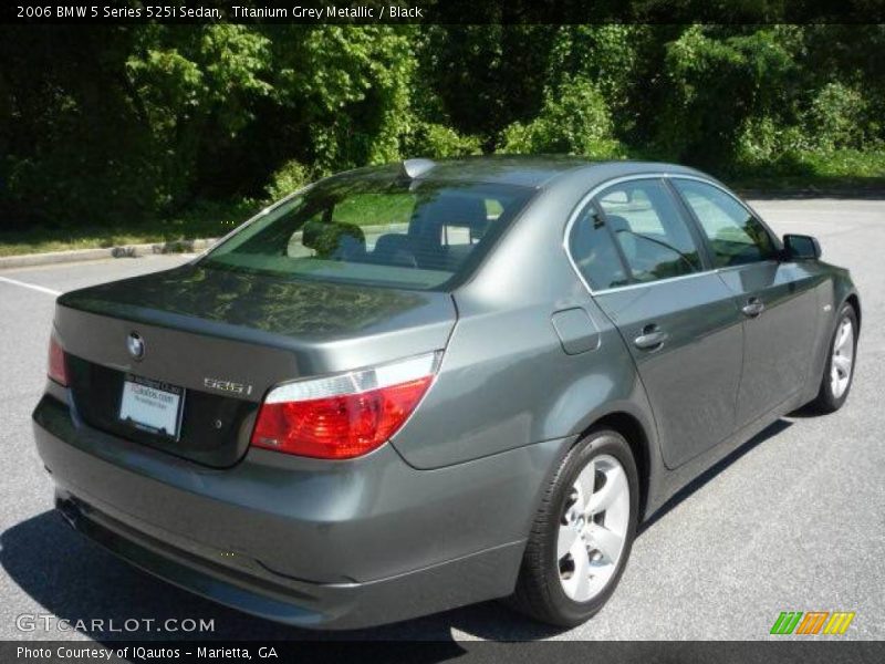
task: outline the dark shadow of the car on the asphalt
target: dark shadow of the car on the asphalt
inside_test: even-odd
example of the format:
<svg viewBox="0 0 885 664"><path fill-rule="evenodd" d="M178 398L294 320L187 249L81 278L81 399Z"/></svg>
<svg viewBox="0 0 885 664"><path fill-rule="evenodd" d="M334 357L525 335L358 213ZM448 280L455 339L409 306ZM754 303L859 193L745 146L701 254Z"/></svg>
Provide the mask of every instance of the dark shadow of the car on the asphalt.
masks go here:
<svg viewBox="0 0 885 664"><path fill-rule="evenodd" d="M677 505L701 489L728 466L754 447L789 428L780 419L748 443L698 476L670 498L639 529L639 537ZM420 661L442 661L458 656L452 630L489 641L549 639L564 630L543 625L507 609L500 602L483 602L444 613L392 625L345 632L302 630L254 618L228 609L166 583L143 572L72 530L54 510L17 523L0 533L0 564L9 577L46 613L76 624L82 621L85 635L100 641L117 640L226 640L226 641L310 641L385 642L421 641L448 644L434 649L434 655ZM138 619L137 629L126 623ZM147 625L143 619L153 619ZM204 632L167 631L168 620L181 624L185 619L199 623L212 621ZM102 621L101 624L93 621ZM38 626L42 630L42 626ZM34 636L35 634L30 634ZM40 632L38 637L53 640L64 634ZM449 652L449 649L454 651ZM456 652L457 651L457 652Z"/></svg>

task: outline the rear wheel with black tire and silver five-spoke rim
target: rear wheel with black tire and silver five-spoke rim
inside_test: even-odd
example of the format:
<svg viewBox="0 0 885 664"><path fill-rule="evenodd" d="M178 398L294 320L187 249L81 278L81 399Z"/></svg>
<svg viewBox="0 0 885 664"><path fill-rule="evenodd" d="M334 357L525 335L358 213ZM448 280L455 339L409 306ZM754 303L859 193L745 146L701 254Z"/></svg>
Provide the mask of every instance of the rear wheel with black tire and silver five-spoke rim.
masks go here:
<svg viewBox="0 0 885 664"><path fill-rule="evenodd" d="M591 486L591 476L593 489L587 494L582 487ZM606 492L605 487L611 490ZM587 498L590 495L592 499ZM614 592L629 558L638 496L636 463L627 442L611 429L591 432L569 452L544 494L509 604L535 620L562 627L576 626L598 612ZM579 504L585 509L579 509ZM597 506L605 509L595 510ZM584 521L576 517L579 512ZM590 513L593 516L589 519ZM583 535L575 537L575 532ZM616 548L612 536L622 532L620 553L612 561ZM572 537L574 543L569 547ZM569 552L560 558L558 547L568 548ZM589 581L583 581L581 569L593 572L586 575Z"/></svg>

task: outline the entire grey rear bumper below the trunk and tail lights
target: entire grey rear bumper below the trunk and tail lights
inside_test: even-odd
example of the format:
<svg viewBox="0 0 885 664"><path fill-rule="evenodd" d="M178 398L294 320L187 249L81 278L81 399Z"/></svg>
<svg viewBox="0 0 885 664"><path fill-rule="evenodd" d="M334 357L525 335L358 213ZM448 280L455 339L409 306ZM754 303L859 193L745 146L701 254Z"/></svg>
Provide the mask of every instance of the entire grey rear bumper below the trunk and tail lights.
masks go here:
<svg viewBox="0 0 885 664"><path fill-rule="evenodd" d="M509 594L563 445L437 470L389 445L343 463L256 449L219 470L90 428L52 395L34 436L79 531L222 604L324 629Z"/></svg>

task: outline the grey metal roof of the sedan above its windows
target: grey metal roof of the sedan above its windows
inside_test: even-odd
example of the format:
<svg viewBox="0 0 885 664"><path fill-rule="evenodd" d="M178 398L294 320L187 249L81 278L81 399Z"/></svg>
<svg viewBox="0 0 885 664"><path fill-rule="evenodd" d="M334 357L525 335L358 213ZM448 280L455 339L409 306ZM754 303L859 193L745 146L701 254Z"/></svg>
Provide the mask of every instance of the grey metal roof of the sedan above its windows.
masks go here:
<svg viewBox="0 0 885 664"><path fill-rule="evenodd" d="M333 177L334 179L389 178L400 173L400 164L367 166ZM593 186L612 178L644 173L695 175L714 179L699 170L678 164L632 160L594 162L571 155L493 155L435 159L434 166L416 179L546 188L553 186L565 174L586 177L586 185Z"/></svg>

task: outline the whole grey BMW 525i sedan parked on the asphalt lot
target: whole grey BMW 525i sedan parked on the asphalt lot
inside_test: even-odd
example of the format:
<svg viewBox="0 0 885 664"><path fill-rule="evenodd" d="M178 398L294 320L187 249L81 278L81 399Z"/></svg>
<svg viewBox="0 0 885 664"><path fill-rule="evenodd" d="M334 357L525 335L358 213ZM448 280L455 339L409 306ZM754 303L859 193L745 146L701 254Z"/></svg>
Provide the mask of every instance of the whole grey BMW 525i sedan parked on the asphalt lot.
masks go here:
<svg viewBox="0 0 885 664"><path fill-rule="evenodd" d="M242 611L576 625L680 487L844 404L861 304L820 256L681 166L353 170L61 295L37 445L76 530Z"/></svg>

